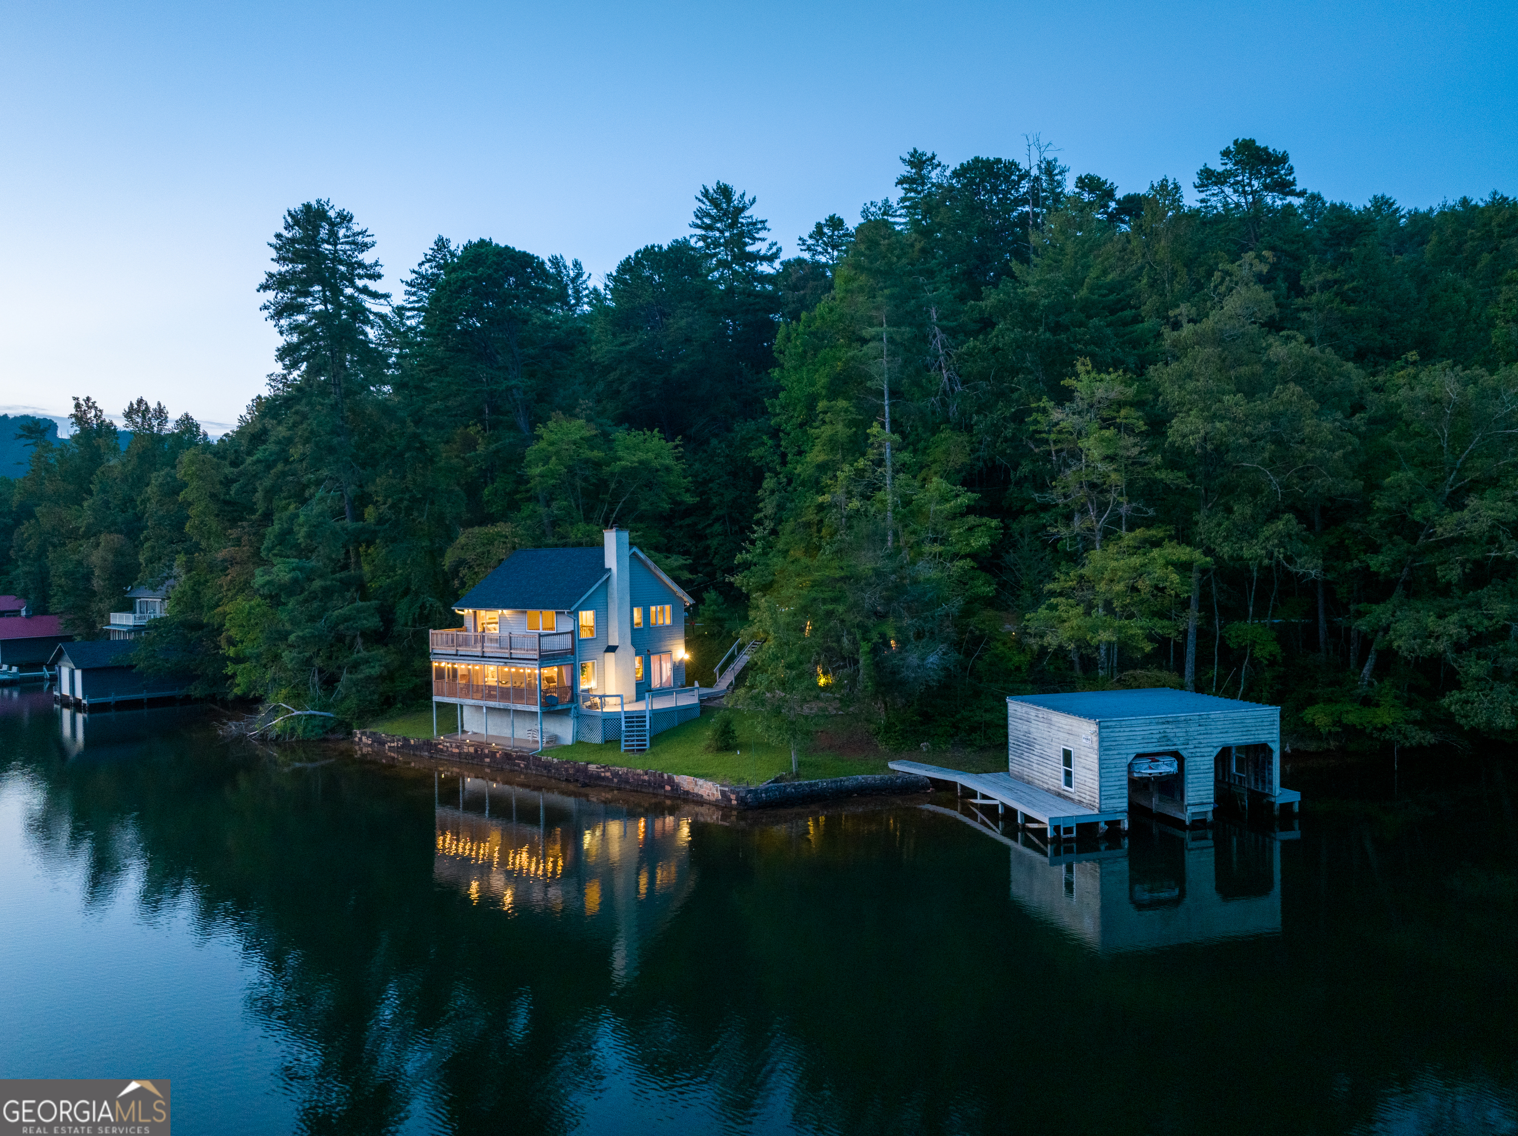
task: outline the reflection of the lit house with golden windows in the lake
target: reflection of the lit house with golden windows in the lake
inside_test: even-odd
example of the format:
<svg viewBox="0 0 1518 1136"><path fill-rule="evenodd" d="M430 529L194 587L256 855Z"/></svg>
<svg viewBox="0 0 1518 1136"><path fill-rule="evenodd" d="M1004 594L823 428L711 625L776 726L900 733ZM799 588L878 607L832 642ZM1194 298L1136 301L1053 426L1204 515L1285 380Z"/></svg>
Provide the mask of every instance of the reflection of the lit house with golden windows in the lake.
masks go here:
<svg viewBox="0 0 1518 1136"><path fill-rule="evenodd" d="M612 931L618 981L685 901L691 816L436 774L433 875L505 913L580 916Z"/></svg>

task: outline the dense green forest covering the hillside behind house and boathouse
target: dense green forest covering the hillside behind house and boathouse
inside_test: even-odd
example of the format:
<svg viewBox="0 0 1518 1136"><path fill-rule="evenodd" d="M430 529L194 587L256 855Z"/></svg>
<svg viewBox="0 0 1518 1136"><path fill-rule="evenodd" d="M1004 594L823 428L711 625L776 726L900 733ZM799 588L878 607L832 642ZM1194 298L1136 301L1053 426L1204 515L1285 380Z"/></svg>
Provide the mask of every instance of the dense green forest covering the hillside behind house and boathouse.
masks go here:
<svg viewBox="0 0 1518 1136"><path fill-rule="evenodd" d="M742 696L792 736L1166 684L1302 746L1510 737L1518 202L1334 203L1248 138L1190 194L1050 153L912 150L789 258L716 182L600 284L439 237L395 297L293 208L267 391L214 441L147 399L124 449L90 397L23 426L0 590L96 635L175 578L143 666L361 723L512 549L621 525L700 598L692 676L762 639Z"/></svg>

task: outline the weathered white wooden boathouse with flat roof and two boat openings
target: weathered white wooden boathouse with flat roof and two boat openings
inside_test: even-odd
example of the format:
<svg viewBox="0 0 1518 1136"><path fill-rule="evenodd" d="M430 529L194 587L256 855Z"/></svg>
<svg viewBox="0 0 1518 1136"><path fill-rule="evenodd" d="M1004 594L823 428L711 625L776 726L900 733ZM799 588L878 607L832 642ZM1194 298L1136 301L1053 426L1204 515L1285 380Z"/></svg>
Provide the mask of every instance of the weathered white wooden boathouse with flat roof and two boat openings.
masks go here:
<svg viewBox="0 0 1518 1136"><path fill-rule="evenodd" d="M1281 710L1186 690L1090 690L1006 699L1006 767L1096 813L1138 805L1210 821L1219 789L1296 804L1281 789Z"/></svg>

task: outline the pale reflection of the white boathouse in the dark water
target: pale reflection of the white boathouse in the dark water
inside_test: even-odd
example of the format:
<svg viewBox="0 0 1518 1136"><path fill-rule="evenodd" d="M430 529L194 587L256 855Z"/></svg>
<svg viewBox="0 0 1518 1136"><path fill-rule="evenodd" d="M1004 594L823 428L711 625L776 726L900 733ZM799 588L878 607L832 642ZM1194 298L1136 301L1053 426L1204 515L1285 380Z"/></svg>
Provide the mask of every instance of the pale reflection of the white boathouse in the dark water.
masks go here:
<svg viewBox="0 0 1518 1136"><path fill-rule="evenodd" d="M1281 836L1293 834L1224 821L1211 833L1140 824L1126 851L1055 857L1032 840L1009 840L1011 893L1104 952L1277 934Z"/></svg>

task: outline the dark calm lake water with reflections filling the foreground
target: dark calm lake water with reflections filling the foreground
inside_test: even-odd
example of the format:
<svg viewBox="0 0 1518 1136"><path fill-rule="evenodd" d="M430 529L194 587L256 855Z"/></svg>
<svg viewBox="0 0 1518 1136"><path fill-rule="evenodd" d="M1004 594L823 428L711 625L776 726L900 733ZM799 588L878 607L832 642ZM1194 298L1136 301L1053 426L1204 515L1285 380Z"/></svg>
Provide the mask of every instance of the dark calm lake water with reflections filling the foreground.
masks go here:
<svg viewBox="0 0 1518 1136"><path fill-rule="evenodd" d="M1011 846L222 743L0 689L0 1075L182 1133L1513 1133L1518 769Z"/></svg>

